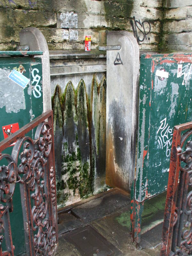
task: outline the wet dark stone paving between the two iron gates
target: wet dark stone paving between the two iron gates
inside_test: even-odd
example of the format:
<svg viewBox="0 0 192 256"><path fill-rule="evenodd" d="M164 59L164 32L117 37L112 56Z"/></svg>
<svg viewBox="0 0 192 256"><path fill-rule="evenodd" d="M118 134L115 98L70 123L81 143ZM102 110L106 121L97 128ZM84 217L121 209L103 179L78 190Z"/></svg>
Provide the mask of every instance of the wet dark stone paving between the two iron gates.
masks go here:
<svg viewBox="0 0 192 256"><path fill-rule="evenodd" d="M59 236L59 248L56 255L159 256L165 197L164 193L145 202L142 214L141 242L137 246L132 243L130 236L130 198L121 190L101 196L97 198L98 200L91 200L76 209L73 208L69 213L59 214L59 230L65 229L65 234ZM113 211L109 211L110 208ZM75 212L76 216L72 212L73 214ZM76 228L75 223L78 223ZM93 251L92 253L91 250L87 252L85 248L87 245L80 246L81 243L77 242L81 239L81 235L78 237L78 234L84 228L93 229L93 233L98 234L101 243L107 241L108 247L112 251L114 250L114 253L105 254L106 252L102 250L95 252L98 245L94 241L96 239L93 238L89 242L91 243L89 248L93 248ZM75 237L75 239L70 239L70 237ZM96 246L93 246L92 242L93 244L95 242Z"/></svg>

